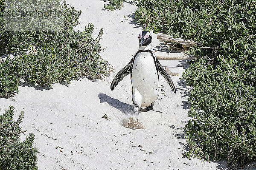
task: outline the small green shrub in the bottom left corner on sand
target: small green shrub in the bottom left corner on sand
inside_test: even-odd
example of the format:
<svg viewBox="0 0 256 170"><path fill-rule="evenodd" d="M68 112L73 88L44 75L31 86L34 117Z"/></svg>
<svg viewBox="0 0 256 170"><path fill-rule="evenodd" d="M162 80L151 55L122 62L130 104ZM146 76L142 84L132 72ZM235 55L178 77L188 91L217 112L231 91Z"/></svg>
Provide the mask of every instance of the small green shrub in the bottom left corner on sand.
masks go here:
<svg viewBox="0 0 256 170"><path fill-rule="evenodd" d="M33 147L34 135L20 142L23 111L16 122L12 116L14 108L9 106L3 115L0 115L0 170L37 170L35 166L37 150Z"/></svg>

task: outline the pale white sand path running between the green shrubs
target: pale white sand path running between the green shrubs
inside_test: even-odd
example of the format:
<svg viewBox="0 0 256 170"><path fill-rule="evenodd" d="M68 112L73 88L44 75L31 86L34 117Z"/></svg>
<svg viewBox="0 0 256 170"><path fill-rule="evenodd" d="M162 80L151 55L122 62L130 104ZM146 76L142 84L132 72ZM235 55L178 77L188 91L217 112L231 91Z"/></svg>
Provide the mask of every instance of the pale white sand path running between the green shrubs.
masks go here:
<svg viewBox="0 0 256 170"><path fill-rule="evenodd" d="M27 130L26 135L35 134L35 147L40 152L39 170L224 169L225 161L208 163L183 156L186 139L180 128L189 119L189 88L180 77L189 67L186 61L160 61L173 73L179 73L172 76L177 93L160 76L159 86L164 86L166 96L160 93L155 111L137 116L145 129L122 126L123 120L133 113L130 77L125 77L114 91L110 90L110 84L138 48L137 37L143 28L134 23L136 6L124 3L121 10L105 11L104 1L68 0L67 3L83 11L79 29L91 22L96 35L104 28L101 44L107 49L101 55L113 65L115 73L104 82L80 79L70 85L54 84L52 89L24 83L13 99L0 99L0 108L13 105L18 112L24 111L21 126ZM154 49L160 51L158 45L154 34ZM111 119L103 119L104 113Z"/></svg>

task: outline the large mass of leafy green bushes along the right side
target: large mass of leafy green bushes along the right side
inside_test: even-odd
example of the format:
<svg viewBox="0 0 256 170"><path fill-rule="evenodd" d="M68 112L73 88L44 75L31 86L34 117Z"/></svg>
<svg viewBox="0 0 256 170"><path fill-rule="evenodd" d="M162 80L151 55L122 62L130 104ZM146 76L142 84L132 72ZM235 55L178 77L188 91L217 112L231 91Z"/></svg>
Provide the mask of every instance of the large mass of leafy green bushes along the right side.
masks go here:
<svg viewBox="0 0 256 170"><path fill-rule="evenodd" d="M200 42L183 77L193 89L188 158L256 159L256 3L254 0L137 0L147 29Z"/></svg>

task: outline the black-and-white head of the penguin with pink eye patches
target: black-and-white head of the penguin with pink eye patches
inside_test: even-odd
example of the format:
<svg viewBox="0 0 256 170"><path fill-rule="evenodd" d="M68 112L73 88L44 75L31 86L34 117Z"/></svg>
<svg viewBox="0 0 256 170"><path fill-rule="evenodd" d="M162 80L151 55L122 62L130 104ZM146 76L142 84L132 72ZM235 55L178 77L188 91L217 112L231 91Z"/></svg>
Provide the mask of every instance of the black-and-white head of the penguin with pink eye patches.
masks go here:
<svg viewBox="0 0 256 170"><path fill-rule="evenodd" d="M151 49L152 45L152 36L148 31L142 31L139 35L139 50L148 50Z"/></svg>

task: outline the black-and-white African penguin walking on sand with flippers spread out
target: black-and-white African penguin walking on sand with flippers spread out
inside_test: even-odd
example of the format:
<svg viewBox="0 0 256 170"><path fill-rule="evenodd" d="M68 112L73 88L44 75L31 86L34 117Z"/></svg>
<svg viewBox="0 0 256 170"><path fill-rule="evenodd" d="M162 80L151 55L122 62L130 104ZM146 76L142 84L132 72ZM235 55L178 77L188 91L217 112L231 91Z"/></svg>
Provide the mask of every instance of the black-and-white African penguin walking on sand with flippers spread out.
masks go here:
<svg viewBox="0 0 256 170"><path fill-rule="evenodd" d="M151 51L152 36L150 32L142 31L139 35L139 42L137 53L128 65L116 74L111 83L111 90L113 91L125 76L131 74L132 101L136 114L139 113L141 107L147 107L147 110L153 109L154 102L159 96L158 72L163 75L172 91L176 93L172 79Z"/></svg>

